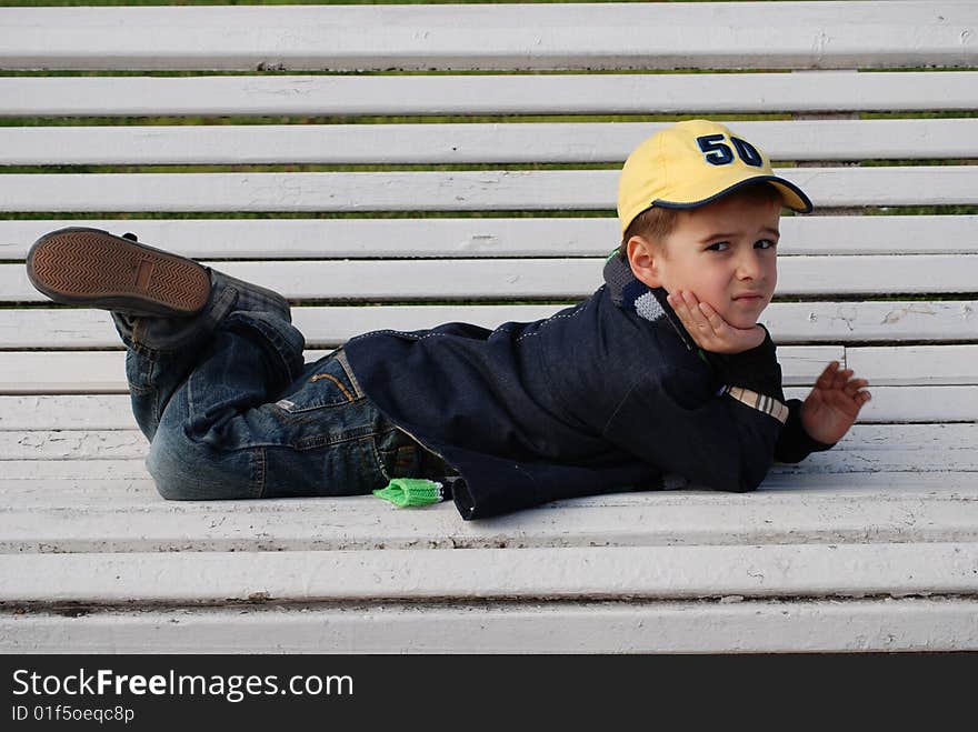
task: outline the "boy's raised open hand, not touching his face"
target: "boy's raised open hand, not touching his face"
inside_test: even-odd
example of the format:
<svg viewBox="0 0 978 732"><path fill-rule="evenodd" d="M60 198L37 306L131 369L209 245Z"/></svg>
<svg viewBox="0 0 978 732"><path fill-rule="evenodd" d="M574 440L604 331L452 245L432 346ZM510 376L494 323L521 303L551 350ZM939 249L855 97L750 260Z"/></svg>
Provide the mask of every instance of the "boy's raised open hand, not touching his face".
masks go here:
<svg viewBox="0 0 978 732"><path fill-rule="evenodd" d="M866 379L852 379L852 369L829 363L801 404L801 425L819 442L835 444L852 427L862 405L872 399Z"/></svg>

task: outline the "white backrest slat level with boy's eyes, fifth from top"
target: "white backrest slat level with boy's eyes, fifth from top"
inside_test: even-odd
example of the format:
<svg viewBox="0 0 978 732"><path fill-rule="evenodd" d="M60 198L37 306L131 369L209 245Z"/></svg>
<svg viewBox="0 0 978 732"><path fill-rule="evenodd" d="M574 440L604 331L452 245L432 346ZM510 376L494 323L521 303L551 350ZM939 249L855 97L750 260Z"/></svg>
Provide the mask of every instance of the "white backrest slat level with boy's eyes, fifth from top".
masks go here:
<svg viewBox="0 0 978 732"><path fill-rule="evenodd" d="M618 220L473 219L38 219L0 221L0 259L23 259L64 227L133 231L197 259L605 257ZM978 215L798 215L780 223L779 257L978 254Z"/></svg>

